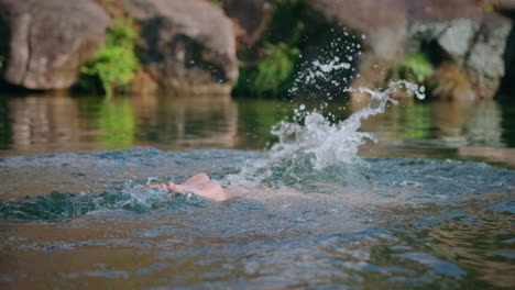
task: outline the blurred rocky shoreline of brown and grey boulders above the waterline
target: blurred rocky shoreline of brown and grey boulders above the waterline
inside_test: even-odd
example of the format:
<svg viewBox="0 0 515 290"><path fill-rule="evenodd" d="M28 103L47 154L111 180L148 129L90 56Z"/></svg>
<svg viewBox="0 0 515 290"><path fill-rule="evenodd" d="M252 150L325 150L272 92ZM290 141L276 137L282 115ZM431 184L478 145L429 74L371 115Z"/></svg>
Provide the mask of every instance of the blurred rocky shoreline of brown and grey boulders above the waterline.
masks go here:
<svg viewBox="0 0 515 290"><path fill-rule="evenodd" d="M438 98L513 99L514 8L507 0L0 0L1 86L72 88L113 21L131 18L136 90L285 93L303 69L298 57L309 63L317 47L346 45L331 40L350 35L357 69L335 76L346 85L381 86L407 71ZM255 89L274 69L278 77L269 79L281 90Z"/></svg>

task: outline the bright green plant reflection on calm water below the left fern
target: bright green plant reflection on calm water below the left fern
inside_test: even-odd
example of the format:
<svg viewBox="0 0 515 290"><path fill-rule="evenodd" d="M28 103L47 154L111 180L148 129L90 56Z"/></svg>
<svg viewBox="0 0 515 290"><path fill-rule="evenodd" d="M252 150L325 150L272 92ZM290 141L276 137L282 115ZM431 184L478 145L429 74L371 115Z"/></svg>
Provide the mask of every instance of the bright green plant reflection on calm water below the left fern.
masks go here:
<svg viewBox="0 0 515 290"><path fill-rule="evenodd" d="M132 99L103 99L99 110L98 129L107 133L98 141L116 145L132 145L136 132Z"/></svg>

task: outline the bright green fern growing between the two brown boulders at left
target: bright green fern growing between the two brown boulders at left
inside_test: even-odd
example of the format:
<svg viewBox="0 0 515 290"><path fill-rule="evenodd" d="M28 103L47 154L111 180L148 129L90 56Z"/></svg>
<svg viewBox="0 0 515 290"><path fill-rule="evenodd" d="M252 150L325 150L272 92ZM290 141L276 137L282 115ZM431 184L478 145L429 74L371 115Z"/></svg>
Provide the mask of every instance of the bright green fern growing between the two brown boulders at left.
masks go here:
<svg viewBox="0 0 515 290"><path fill-rule="evenodd" d="M140 62L134 53L134 40L138 33L131 18L116 19L107 33L107 42L97 53L97 57L81 68L79 86L92 90L100 82L103 92L111 96L113 90L127 90Z"/></svg>

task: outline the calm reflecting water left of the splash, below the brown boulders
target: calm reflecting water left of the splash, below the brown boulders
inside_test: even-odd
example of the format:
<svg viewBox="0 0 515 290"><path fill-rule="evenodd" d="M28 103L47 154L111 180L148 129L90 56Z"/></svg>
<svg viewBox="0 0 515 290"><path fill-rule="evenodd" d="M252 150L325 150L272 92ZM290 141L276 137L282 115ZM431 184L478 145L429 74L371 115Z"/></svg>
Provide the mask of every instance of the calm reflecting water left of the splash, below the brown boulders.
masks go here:
<svg viewBox="0 0 515 290"><path fill-rule="evenodd" d="M263 149L289 103L229 96L0 98L0 155L155 146Z"/></svg>

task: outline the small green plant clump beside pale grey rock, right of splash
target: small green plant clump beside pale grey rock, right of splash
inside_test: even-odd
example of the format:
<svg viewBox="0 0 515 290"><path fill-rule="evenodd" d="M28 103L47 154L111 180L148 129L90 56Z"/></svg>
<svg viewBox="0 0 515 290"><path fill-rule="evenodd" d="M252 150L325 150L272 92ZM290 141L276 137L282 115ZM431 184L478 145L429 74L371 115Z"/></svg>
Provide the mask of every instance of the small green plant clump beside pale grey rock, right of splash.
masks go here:
<svg viewBox="0 0 515 290"><path fill-rule="evenodd" d="M427 85L431 81L432 75L432 64L429 57L421 52L397 64L392 70L393 79L406 79Z"/></svg>

